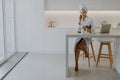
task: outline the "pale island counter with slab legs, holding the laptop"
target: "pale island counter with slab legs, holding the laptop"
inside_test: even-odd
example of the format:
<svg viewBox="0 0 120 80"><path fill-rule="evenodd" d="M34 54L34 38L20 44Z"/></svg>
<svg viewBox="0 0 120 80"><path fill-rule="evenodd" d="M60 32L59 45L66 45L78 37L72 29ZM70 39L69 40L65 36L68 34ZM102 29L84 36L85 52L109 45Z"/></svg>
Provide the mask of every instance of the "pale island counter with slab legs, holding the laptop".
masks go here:
<svg viewBox="0 0 120 80"><path fill-rule="evenodd" d="M69 53L68 53L68 42L69 38L114 38L114 53L115 53L115 69L120 73L120 34L119 33L110 33L110 34L80 34L76 32L67 32L66 33L66 77L69 77Z"/></svg>

